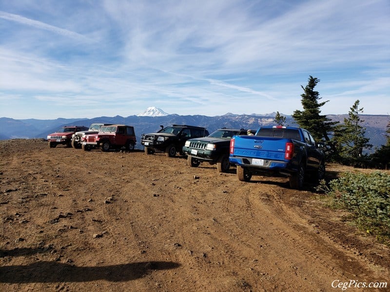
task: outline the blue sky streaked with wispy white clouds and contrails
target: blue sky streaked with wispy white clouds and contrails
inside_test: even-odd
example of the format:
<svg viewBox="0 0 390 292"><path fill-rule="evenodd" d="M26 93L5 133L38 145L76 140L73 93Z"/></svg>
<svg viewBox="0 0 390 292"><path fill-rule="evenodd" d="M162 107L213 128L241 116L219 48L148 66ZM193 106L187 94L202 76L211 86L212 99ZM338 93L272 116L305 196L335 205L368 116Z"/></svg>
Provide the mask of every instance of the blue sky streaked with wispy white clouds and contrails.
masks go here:
<svg viewBox="0 0 390 292"><path fill-rule="evenodd" d="M0 0L0 117L390 114L389 0Z"/></svg>

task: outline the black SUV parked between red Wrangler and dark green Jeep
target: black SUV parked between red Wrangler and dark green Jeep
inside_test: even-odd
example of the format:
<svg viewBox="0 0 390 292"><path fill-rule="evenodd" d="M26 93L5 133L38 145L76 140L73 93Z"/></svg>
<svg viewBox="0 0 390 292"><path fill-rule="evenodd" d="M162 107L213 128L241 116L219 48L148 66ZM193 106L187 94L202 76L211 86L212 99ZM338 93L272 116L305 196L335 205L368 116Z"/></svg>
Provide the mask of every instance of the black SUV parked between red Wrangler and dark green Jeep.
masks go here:
<svg viewBox="0 0 390 292"><path fill-rule="evenodd" d="M209 135L209 131L202 127L188 125L160 127L161 129L156 133L142 134L141 144L145 146L146 154L162 151L168 157L175 157L176 152L183 154L182 148L188 139Z"/></svg>

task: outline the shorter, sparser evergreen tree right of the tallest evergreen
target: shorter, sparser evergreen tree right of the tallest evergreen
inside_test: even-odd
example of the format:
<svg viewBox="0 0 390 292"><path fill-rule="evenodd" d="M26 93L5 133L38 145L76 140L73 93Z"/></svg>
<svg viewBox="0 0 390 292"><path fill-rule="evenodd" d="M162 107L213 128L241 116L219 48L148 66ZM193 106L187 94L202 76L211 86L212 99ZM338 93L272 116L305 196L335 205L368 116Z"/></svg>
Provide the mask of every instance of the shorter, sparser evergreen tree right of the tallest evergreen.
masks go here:
<svg viewBox="0 0 390 292"><path fill-rule="evenodd" d="M364 121L359 117L363 108L359 109L359 104L360 101L356 100L348 112L348 118L344 119L344 124L336 126L334 130L333 141L338 155L344 161L359 160L363 155L363 149L372 146L369 144L370 139L364 136L366 129L361 126Z"/></svg>

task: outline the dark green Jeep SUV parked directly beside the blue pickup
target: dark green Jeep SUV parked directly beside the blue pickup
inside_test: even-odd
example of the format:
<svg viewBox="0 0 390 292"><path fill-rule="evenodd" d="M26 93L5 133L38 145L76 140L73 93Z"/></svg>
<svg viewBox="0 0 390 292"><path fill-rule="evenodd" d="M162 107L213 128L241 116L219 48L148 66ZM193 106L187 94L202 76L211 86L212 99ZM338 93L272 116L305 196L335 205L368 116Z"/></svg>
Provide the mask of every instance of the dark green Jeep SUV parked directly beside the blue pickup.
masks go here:
<svg viewBox="0 0 390 292"><path fill-rule="evenodd" d="M255 131L250 130L252 134ZM229 172L229 146L234 135L247 135L245 129L220 128L209 136L200 139L187 140L184 154L188 155L188 165L197 167L201 162L216 164L218 172Z"/></svg>

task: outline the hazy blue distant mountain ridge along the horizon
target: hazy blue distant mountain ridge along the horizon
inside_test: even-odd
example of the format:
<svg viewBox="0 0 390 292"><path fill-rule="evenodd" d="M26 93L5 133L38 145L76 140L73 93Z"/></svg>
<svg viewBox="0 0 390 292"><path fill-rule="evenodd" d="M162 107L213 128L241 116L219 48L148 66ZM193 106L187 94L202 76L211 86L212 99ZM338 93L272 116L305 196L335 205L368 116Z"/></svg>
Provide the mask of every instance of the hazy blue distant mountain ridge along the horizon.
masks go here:
<svg viewBox="0 0 390 292"><path fill-rule="evenodd" d="M281 114L283 115L283 114ZM297 126L292 116L286 117L287 126ZM334 121L343 121L348 117L345 115L328 115ZM373 146L381 146L386 143L385 131L390 117L387 115L360 115L364 122L362 126L366 128L366 136L370 138ZM137 145L140 145L140 136L142 133L155 132L160 129L160 125L168 126L172 124L193 125L208 128L213 132L217 128L249 128L257 129L261 126L274 125L274 113L271 114L233 114L226 113L221 116L205 115L177 115L167 114L161 116L132 115L128 117L101 116L92 119L63 119L55 120L37 120L25 119L15 120L11 118L0 118L0 140L14 138L46 138L48 134L57 131L61 126L87 126L92 123L114 123L134 126L137 134Z"/></svg>

